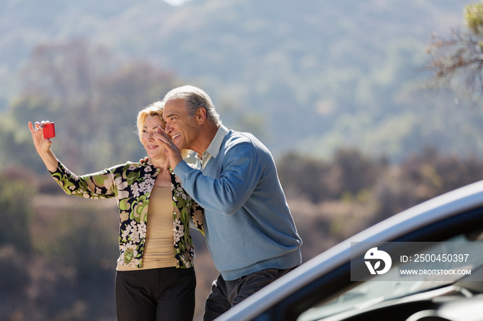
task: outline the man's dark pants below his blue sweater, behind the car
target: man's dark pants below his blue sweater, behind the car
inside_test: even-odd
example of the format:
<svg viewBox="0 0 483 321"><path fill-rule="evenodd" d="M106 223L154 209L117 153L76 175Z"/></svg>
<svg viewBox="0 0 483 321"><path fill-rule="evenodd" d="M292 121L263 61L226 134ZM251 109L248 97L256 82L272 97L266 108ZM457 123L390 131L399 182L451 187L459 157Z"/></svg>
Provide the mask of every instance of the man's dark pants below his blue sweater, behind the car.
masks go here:
<svg viewBox="0 0 483 321"><path fill-rule="evenodd" d="M239 302L293 269L295 267L290 269L263 269L229 281L224 280L219 275L217 280L213 281L211 293L206 299L203 320L215 320L231 307L235 307Z"/></svg>

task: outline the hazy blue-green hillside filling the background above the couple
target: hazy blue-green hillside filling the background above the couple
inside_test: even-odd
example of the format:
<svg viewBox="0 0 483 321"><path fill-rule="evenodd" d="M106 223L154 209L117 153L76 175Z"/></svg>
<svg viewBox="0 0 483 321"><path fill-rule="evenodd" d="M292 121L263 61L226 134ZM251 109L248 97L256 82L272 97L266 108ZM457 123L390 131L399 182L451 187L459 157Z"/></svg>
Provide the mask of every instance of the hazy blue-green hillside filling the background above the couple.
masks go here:
<svg viewBox="0 0 483 321"><path fill-rule="evenodd" d="M19 94L35 46L83 39L203 87L226 125L276 156L357 146L399 160L425 145L481 154L480 109L421 90L431 32L460 28L466 3L3 0L0 110Z"/></svg>

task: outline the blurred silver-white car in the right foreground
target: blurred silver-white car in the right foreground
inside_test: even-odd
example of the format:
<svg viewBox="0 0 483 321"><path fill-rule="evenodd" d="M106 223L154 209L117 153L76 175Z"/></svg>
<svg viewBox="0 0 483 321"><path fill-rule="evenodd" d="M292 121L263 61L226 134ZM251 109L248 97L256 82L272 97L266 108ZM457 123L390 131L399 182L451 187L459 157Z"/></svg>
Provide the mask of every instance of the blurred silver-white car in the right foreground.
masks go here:
<svg viewBox="0 0 483 321"><path fill-rule="evenodd" d="M482 239L483 181L407 209L341 242L250 296L217 321L482 321ZM386 246L381 249L411 244L415 245L411 253L425 253L430 258L442 254L440 245L457 242L453 243L457 254L467 254L469 259L452 262L452 266L471 269L471 274L452 276L451 280L437 275L406 280L394 273L392 277L375 273L362 281L351 281L351 268L353 272L366 271L368 264L364 262L367 249L354 246L354 242ZM408 257L412 256L406 261ZM407 262L393 259L392 271L399 271L403 264Z"/></svg>

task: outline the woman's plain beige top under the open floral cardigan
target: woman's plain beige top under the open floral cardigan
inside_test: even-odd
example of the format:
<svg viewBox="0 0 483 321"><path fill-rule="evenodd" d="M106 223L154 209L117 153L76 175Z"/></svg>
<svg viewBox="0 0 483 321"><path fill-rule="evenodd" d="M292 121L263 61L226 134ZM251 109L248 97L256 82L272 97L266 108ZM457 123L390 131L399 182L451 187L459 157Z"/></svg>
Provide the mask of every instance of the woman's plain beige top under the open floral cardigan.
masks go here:
<svg viewBox="0 0 483 321"><path fill-rule="evenodd" d="M175 240L172 234L172 196L170 187L153 187L149 198L148 229L140 269L117 265L117 271L139 271L176 267Z"/></svg>

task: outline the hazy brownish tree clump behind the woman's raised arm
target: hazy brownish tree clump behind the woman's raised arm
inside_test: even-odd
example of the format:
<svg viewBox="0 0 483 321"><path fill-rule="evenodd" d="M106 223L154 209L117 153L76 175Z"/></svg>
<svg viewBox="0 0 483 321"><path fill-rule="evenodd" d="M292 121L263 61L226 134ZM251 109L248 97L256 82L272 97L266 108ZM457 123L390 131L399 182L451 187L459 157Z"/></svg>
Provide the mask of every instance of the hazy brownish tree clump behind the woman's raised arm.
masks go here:
<svg viewBox="0 0 483 321"><path fill-rule="evenodd" d="M150 63L124 61L86 41L39 45L21 76L21 94L8 115L10 142L32 147L28 121L54 121L52 150L79 174L144 156L137 112L177 85ZM33 147L22 150L34 153Z"/></svg>

